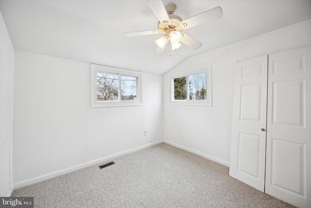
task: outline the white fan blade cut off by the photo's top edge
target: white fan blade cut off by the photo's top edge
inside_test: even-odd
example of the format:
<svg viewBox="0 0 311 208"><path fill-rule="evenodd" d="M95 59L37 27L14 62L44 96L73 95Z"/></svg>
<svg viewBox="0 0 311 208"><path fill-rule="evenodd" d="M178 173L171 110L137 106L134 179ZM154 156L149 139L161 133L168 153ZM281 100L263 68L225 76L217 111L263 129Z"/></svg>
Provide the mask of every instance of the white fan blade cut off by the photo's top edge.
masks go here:
<svg viewBox="0 0 311 208"><path fill-rule="evenodd" d="M163 24L171 24L169 15L161 0L146 0L150 9L155 13L155 17Z"/></svg>

